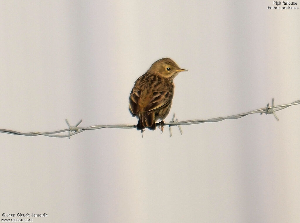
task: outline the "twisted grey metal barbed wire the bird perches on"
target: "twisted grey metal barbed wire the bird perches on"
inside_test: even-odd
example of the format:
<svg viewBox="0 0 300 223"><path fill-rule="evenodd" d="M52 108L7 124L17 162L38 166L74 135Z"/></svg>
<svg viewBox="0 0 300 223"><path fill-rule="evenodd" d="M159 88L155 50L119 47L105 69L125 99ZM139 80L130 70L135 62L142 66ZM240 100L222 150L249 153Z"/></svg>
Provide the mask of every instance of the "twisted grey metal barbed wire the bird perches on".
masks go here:
<svg viewBox="0 0 300 223"><path fill-rule="evenodd" d="M205 122L219 122L219 121L222 121L225 119L238 119L238 118L244 117L248 114L256 114L256 113L273 114L274 117L276 118L276 120L278 121L278 117L276 116L275 112L282 110L282 109L286 109L289 106L299 105L299 104L300 104L300 100L297 100L290 104L274 106L274 98L273 98L271 107L269 107L269 103L268 103L265 108L256 109L251 112L230 115L227 117L211 118L211 119L206 119L206 120L194 119L194 120L178 121L177 118L175 119L175 113L174 113L172 120L168 123L163 123L163 126L169 126L169 132L170 132L170 137L171 137L172 136L171 126L178 126L179 131L182 134L182 129L181 129L180 125L194 125L194 124L200 124L200 123L205 123ZM25 135L25 136L44 135L44 136L56 137L56 138L67 138L67 137L70 138L72 135L81 133L86 130L95 130L95 129L103 129L103 128L134 129L137 127L136 125L95 125L95 126L89 126L89 127L78 127L79 124L82 122L82 120L80 120L75 126L71 126L67 119L65 119L65 121L69 128L58 130L58 131L53 131L53 132L17 132L17 131L8 130L8 129L0 129L0 133L7 133L7 134L13 134L13 135ZM157 125L161 125L161 123L157 123ZM62 133L62 132L68 132L68 134L67 135L59 135L59 133ZM142 136L143 136L143 131L142 131Z"/></svg>

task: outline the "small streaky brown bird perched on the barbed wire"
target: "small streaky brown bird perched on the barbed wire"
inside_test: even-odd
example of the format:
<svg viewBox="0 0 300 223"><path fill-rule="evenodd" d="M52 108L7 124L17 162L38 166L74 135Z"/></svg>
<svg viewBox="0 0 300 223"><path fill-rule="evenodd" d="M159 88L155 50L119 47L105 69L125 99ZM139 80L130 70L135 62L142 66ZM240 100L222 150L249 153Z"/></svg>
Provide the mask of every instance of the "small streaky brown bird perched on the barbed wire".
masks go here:
<svg viewBox="0 0 300 223"><path fill-rule="evenodd" d="M155 130L155 122L161 119L162 131L164 118L172 105L173 79L181 71L187 70L178 67L170 58L162 58L136 80L129 97L129 111L139 119L137 130Z"/></svg>

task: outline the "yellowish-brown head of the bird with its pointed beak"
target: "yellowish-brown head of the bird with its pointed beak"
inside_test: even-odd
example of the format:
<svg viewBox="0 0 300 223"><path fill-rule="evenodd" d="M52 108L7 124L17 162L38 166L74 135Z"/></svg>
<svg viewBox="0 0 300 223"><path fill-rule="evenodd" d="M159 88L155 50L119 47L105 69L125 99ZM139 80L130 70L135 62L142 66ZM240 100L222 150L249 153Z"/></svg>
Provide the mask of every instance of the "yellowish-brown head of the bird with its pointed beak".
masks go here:
<svg viewBox="0 0 300 223"><path fill-rule="evenodd" d="M179 72L188 71L185 69L181 69L178 65L170 58L162 58L158 61L155 61L148 72L156 73L158 75L163 76L164 78L174 79Z"/></svg>

